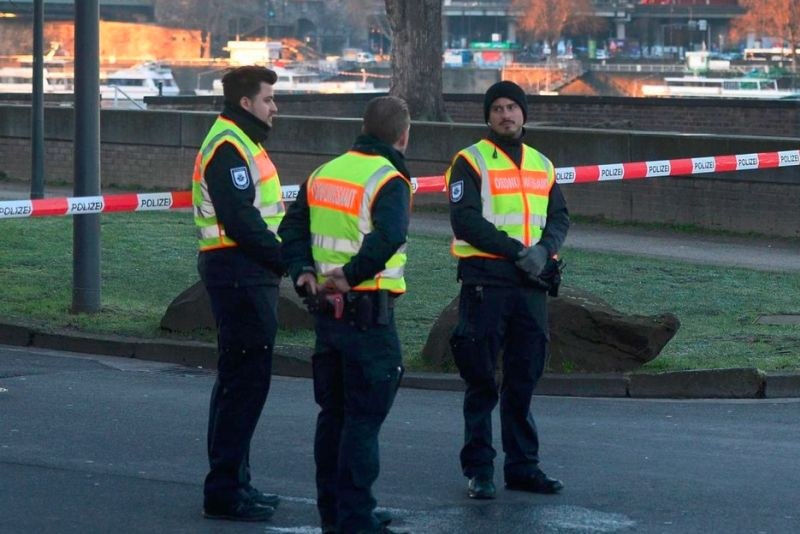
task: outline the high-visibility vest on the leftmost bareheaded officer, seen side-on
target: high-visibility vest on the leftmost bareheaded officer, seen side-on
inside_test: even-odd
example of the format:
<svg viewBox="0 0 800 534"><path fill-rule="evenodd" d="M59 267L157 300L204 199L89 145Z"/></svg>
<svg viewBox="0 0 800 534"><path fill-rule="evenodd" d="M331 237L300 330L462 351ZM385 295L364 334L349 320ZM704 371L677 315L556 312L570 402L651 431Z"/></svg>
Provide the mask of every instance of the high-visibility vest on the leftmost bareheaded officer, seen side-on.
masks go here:
<svg viewBox="0 0 800 534"><path fill-rule="evenodd" d="M259 143L253 142L233 121L222 116L206 135L197 158L192 175L192 205L194 222L200 232L200 250L235 247L236 242L225 235L225 228L217 221L214 205L208 193L205 170L208 162L222 143L232 144L247 162L247 171L256 188L253 205L261 213L267 226L276 232L283 219L284 206L281 199L281 181L278 171L266 150ZM231 179L234 179L232 177ZM277 235L277 233L276 233Z"/></svg>

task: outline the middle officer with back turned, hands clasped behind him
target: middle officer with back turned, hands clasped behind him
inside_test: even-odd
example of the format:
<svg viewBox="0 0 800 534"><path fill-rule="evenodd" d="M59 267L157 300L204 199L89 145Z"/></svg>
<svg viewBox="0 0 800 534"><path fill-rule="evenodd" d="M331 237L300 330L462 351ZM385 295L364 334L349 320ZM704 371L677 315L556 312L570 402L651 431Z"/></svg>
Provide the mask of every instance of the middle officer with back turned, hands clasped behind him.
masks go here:
<svg viewBox="0 0 800 534"><path fill-rule="evenodd" d="M314 459L326 533L391 532L371 488L378 432L402 375L393 302L406 289L409 127L405 101L371 100L362 135L300 186L278 230L289 274L314 310Z"/></svg>

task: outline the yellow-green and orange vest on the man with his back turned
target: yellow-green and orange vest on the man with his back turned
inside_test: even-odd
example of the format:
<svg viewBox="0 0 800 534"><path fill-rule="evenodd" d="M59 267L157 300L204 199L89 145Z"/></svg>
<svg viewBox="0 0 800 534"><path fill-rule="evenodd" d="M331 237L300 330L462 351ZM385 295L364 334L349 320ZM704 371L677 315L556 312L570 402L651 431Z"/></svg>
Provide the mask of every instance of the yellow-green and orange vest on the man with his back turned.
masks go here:
<svg viewBox="0 0 800 534"><path fill-rule="evenodd" d="M317 278L342 267L361 249L372 232L370 209L375 196L391 178L402 174L383 156L350 151L319 167L306 184L311 219L311 255ZM409 194L410 194L409 187ZM395 252L383 271L365 280L354 291L386 289L404 293L406 246Z"/></svg>

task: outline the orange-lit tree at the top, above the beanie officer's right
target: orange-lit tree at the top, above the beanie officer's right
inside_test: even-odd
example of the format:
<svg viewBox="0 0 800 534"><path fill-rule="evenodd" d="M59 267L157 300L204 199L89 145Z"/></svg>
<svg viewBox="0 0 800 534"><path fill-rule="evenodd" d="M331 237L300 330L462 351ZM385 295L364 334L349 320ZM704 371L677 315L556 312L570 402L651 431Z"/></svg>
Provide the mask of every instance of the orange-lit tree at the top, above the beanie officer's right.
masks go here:
<svg viewBox="0 0 800 534"><path fill-rule="evenodd" d="M546 42L553 56L565 32L593 30L596 23L591 0L512 0L512 7L520 29Z"/></svg>

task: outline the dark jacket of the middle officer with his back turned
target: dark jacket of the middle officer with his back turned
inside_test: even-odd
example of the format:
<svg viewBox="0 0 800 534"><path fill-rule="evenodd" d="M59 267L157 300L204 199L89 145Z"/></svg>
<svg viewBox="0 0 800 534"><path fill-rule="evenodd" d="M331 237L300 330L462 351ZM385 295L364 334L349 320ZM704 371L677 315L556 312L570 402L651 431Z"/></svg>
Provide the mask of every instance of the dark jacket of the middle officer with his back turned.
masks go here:
<svg viewBox="0 0 800 534"><path fill-rule="evenodd" d="M380 155L388 159L405 177L389 179L372 203L372 231L364 236L358 253L344 265L347 283L355 287L373 278L386 268L386 262L406 242L411 202L410 174L402 153L369 136L359 136L352 150L364 154ZM283 255L289 275L295 282L303 272L315 272L311 256L311 231L306 186L300 186L297 200L289 206L278 234L283 242Z"/></svg>

